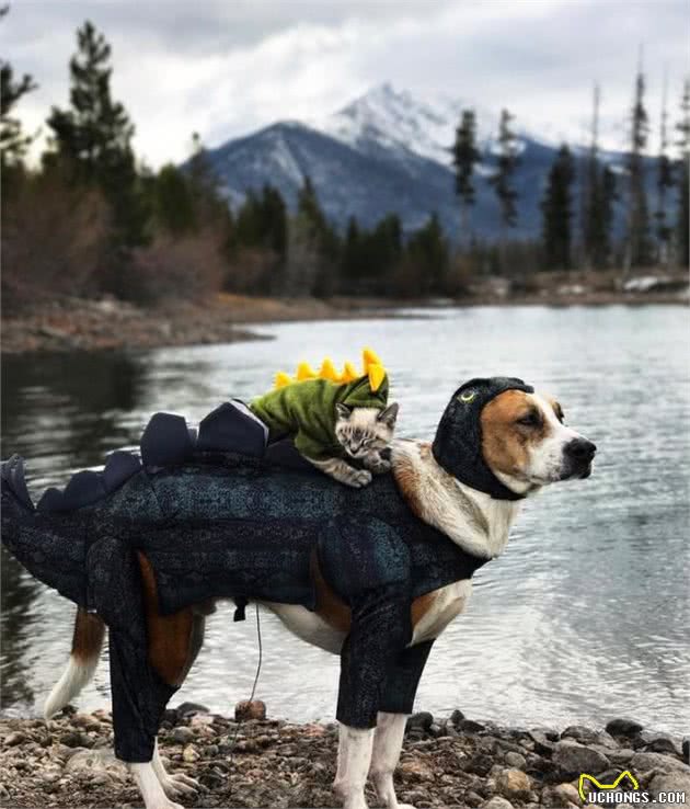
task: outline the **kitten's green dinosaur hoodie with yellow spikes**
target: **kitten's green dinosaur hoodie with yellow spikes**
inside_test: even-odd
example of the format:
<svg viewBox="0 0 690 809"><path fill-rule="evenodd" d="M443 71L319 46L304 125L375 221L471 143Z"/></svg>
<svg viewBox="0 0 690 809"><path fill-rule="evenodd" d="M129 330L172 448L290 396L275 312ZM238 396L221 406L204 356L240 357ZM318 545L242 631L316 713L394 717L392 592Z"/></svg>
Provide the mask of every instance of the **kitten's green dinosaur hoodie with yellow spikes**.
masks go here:
<svg viewBox="0 0 690 809"><path fill-rule="evenodd" d="M268 440L286 436L312 460L325 460L344 454L335 437L336 404L348 408L377 408L388 403L388 376L372 391L369 377L350 383L307 379L272 390L250 403L250 409L268 428Z"/></svg>

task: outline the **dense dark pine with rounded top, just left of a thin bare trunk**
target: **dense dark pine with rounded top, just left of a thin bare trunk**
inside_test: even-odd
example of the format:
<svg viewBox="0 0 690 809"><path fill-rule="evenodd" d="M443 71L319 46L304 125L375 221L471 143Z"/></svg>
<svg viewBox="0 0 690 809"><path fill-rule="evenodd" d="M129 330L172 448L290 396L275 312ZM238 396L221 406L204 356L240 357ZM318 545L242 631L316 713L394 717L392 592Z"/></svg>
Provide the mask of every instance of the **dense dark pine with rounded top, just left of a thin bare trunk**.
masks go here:
<svg viewBox="0 0 690 809"><path fill-rule="evenodd" d="M574 179L573 156L564 144L549 172L547 192L541 203L544 263L549 270L567 270L571 266Z"/></svg>

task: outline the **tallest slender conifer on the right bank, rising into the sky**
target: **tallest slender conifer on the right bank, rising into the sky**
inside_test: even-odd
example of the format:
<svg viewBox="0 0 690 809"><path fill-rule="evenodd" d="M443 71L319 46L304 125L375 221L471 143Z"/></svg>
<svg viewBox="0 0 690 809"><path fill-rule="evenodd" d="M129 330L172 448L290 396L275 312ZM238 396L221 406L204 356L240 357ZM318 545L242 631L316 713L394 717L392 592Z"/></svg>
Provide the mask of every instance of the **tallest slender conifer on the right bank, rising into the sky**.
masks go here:
<svg viewBox="0 0 690 809"><path fill-rule="evenodd" d="M635 94L631 114L630 151L628 152L628 235L624 273L633 266L652 262L649 214L645 191L644 151L649 134L649 119L644 106L645 81L642 67L635 78Z"/></svg>

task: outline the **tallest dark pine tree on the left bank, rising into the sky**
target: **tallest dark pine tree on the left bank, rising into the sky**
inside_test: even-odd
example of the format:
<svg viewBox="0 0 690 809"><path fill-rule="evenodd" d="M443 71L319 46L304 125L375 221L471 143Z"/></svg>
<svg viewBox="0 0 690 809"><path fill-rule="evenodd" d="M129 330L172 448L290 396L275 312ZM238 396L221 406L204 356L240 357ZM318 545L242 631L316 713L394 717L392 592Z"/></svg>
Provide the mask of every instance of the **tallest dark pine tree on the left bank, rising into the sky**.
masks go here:
<svg viewBox="0 0 690 809"><path fill-rule="evenodd" d="M131 149L134 125L122 103L111 96L111 46L91 22L77 31L71 58L70 107L53 107L47 119L54 133L55 158L76 182L94 185L113 209L114 241L135 247L147 240L148 210L140 193Z"/></svg>

